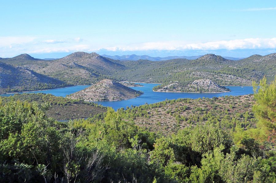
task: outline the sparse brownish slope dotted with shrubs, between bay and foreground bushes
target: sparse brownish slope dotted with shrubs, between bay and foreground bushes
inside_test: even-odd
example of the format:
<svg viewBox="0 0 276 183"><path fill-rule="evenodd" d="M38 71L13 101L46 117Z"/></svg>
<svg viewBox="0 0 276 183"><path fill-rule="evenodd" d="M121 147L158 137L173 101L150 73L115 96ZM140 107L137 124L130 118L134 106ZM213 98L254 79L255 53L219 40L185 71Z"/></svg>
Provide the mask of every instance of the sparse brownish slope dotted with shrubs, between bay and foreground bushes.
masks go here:
<svg viewBox="0 0 276 183"><path fill-rule="evenodd" d="M131 106L119 109L128 112L136 125L164 135L177 133L187 126L204 124L207 121L220 123L227 131L255 127L256 119L252 112L253 95L225 96L213 98L179 98L155 104Z"/></svg>

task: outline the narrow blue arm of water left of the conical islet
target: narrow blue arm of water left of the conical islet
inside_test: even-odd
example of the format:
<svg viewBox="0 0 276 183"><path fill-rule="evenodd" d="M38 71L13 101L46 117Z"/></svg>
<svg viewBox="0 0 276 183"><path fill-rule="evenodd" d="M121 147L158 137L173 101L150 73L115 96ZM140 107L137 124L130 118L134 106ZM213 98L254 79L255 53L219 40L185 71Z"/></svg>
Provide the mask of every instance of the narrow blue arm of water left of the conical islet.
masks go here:
<svg viewBox="0 0 276 183"><path fill-rule="evenodd" d="M39 90L39 91L32 91L32 92L20 92L20 93L50 93L52 95L58 96L58 97L66 97L66 95L70 95L71 93L75 93L77 91L83 90L91 85L77 85L77 86L70 86L65 88L57 88L52 90ZM15 93L7 93L7 94L1 94L0 96L11 96Z"/></svg>

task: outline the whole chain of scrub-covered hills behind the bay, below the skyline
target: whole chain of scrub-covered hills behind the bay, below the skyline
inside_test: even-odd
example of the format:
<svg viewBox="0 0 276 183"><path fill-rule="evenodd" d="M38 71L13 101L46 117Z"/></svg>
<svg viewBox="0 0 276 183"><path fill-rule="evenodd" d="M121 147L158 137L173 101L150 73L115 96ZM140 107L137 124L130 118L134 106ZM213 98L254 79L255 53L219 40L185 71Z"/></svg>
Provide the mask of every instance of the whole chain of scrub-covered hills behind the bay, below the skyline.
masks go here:
<svg viewBox="0 0 276 183"><path fill-rule="evenodd" d="M131 82L163 83L178 81L187 85L198 79L210 79L219 85L252 85L266 75L268 82L275 76L276 54L253 55L242 60L228 60L206 54L195 60L172 59L164 61L113 60L97 53L75 52L57 60L40 60L23 54L1 62L24 66L67 85L91 84L103 79ZM14 73L12 73L14 74ZM22 84L21 86L25 86Z"/></svg>

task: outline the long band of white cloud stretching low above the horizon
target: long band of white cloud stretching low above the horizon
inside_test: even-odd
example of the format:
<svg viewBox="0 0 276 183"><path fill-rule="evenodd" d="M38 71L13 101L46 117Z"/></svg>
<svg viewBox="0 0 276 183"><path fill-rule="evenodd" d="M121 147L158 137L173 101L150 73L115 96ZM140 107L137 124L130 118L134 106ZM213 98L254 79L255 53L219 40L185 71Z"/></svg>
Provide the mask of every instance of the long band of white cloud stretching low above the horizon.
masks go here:
<svg viewBox="0 0 276 183"><path fill-rule="evenodd" d="M80 44L82 42L82 44ZM54 44L55 43L55 44ZM96 45L92 40L81 38L47 39L31 36L0 37L0 57L14 57L21 53L97 52L107 51L185 51L185 50L235 50L235 49L276 49L276 38L247 38L210 42L144 42L135 44Z"/></svg>

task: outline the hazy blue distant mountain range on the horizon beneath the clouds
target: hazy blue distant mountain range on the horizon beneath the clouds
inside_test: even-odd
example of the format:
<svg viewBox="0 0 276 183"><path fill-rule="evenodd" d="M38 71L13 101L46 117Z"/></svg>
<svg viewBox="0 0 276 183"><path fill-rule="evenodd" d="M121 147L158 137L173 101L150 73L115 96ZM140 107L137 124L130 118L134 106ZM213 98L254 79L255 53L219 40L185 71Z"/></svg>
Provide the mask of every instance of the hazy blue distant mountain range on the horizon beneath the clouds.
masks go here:
<svg viewBox="0 0 276 183"><path fill-rule="evenodd" d="M187 56L169 56L169 57L150 57L148 55L122 55L122 56L118 56L118 55L115 55L115 56L110 56L110 55L102 55L103 57L107 57L107 58L111 58L111 59L114 59L114 60L151 60L151 61L161 61L161 60L171 60L171 59L177 59L177 58L181 58L181 59L188 59L188 60L194 60L194 59L197 59L197 58L200 58L202 57L203 55L198 55L198 56L190 56L190 57L187 57ZM225 59L228 59L228 60L240 60L240 59L243 59L243 58L236 58L236 57L223 57Z"/></svg>

